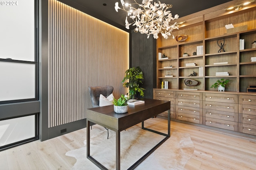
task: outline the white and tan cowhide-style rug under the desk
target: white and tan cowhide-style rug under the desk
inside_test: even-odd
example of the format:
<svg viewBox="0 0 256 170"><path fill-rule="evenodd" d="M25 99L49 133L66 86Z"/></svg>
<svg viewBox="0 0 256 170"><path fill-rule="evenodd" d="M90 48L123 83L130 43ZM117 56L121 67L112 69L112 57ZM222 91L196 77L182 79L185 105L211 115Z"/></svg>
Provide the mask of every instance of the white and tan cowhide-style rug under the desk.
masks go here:
<svg viewBox="0 0 256 170"><path fill-rule="evenodd" d="M126 170L146 152L159 143L164 136L142 130L141 124L120 133L121 170ZM90 140L90 155L109 170L116 169L116 133L93 125ZM166 131L161 131L166 133ZM86 158L86 140L84 147L66 152L66 156L76 158L72 170L98 170L99 168ZM186 162L194 153L194 144L188 133L171 132L170 138L156 149L136 170L183 170Z"/></svg>

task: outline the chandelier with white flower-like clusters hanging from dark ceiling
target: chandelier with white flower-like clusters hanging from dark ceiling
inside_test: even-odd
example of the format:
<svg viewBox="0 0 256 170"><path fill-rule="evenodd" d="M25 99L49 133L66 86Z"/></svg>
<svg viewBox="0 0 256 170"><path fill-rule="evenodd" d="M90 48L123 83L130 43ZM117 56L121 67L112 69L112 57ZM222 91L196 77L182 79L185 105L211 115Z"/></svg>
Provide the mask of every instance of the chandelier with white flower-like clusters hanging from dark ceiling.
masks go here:
<svg viewBox="0 0 256 170"><path fill-rule="evenodd" d="M178 29L178 24L175 22L171 24L172 20L178 19L179 16L176 14L174 17L172 13L167 10L172 8L171 4L162 4L159 0L154 2L153 0L142 0L142 4L138 4L136 0L134 3L128 4L124 3L124 0L120 0L122 8L119 7L118 2L115 4L116 12L118 9L126 11L126 20L125 26L129 29L130 25L136 25L134 32L140 32L142 34L147 34L148 38L150 34L153 35L155 39L158 38L158 33L161 33L165 39L168 39L172 34L173 29ZM136 8L137 7L137 8ZM133 20L132 23L129 23L127 18Z"/></svg>

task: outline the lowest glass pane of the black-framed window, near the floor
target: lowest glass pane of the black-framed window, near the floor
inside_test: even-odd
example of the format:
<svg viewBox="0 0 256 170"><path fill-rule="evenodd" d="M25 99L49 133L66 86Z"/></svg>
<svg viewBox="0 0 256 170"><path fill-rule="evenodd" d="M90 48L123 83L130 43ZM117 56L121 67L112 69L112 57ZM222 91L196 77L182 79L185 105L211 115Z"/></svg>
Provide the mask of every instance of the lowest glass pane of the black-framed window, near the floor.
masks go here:
<svg viewBox="0 0 256 170"><path fill-rule="evenodd" d="M35 115L0 121L0 147L35 137Z"/></svg>

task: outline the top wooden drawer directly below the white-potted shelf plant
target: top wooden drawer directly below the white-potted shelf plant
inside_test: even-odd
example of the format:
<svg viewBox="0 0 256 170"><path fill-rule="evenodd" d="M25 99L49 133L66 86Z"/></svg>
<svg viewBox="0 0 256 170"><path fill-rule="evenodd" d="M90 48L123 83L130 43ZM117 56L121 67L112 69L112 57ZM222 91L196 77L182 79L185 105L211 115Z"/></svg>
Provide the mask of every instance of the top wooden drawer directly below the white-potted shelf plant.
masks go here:
<svg viewBox="0 0 256 170"><path fill-rule="evenodd" d="M235 94L215 94L215 93L204 93L204 101L210 102L224 102L224 103L238 103L238 95Z"/></svg>

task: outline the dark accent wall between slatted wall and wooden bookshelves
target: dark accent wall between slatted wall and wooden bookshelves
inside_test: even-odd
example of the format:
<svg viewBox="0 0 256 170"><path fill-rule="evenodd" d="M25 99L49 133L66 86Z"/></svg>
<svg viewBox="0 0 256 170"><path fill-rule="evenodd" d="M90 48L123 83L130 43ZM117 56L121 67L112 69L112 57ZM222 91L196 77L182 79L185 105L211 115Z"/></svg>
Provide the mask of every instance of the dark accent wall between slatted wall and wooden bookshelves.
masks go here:
<svg viewBox="0 0 256 170"><path fill-rule="evenodd" d="M153 88L156 88L156 39L151 35L132 32L132 57L130 66L140 66L144 80L142 87L144 98L153 98Z"/></svg>

